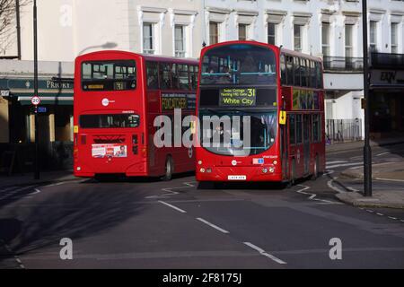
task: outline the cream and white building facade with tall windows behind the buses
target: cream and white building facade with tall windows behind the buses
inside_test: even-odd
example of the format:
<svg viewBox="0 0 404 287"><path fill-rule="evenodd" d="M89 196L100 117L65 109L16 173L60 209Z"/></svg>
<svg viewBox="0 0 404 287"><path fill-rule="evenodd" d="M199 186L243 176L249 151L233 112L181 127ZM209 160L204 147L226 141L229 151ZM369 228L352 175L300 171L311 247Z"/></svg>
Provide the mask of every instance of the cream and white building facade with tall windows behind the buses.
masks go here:
<svg viewBox="0 0 404 287"><path fill-rule="evenodd" d="M72 76L75 57L94 50L197 58L203 44L253 39L323 57L326 118L363 121L360 0L37 2L40 66L63 62L61 77ZM15 58L7 61L33 58L31 5L21 8L20 22L20 53L16 30L0 38L0 57ZM373 50L404 53L403 0L368 0L368 27ZM5 66L12 64L0 67L3 77L22 72Z"/></svg>

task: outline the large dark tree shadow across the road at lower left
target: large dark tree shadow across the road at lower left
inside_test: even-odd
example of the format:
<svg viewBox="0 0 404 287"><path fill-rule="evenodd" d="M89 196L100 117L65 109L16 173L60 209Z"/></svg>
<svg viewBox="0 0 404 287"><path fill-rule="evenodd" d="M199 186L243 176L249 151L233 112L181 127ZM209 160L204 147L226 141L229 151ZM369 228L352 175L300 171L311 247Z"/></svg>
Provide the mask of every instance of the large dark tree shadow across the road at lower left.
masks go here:
<svg viewBox="0 0 404 287"><path fill-rule="evenodd" d="M0 219L0 239L18 255L58 245L60 239L85 238L142 213L140 191L86 187L56 192ZM0 258L1 261L1 258Z"/></svg>

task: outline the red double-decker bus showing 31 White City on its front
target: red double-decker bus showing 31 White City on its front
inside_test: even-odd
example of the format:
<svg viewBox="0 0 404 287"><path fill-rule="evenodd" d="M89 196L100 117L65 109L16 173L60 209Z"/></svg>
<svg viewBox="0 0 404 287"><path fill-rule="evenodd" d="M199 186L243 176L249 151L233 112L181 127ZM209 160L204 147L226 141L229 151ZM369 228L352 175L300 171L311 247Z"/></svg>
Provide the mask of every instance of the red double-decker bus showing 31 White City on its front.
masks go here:
<svg viewBox="0 0 404 287"><path fill-rule="evenodd" d="M230 41L204 48L199 69L198 181L293 182L325 170L320 58Z"/></svg>

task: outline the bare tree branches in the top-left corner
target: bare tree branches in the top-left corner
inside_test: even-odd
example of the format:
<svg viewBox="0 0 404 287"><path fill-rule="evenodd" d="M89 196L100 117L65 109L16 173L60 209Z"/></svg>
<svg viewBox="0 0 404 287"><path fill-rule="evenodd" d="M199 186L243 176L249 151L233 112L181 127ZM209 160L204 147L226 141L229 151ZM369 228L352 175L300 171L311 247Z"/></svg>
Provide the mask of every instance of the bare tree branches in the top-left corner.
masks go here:
<svg viewBox="0 0 404 287"><path fill-rule="evenodd" d="M17 2L20 7L30 4L31 0L0 0L0 54L11 45L9 39L14 35L16 29L16 7Z"/></svg>

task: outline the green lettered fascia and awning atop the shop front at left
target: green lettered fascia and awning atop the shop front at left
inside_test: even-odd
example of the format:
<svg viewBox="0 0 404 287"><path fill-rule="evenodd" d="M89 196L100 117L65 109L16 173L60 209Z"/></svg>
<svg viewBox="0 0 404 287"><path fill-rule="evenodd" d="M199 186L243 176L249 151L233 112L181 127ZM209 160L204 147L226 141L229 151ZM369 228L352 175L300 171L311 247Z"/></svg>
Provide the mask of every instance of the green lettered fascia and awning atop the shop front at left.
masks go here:
<svg viewBox="0 0 404 287"><path fill-rule="evenodd" d="M73 105L72 82L40 78L38 88L41 105ZM9 97L16 98L22 105L31 105L33 79L0 78L0 90L9 90Z"/></svg>

